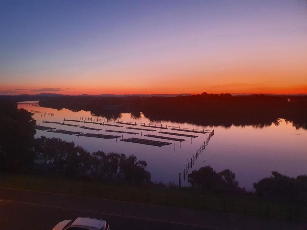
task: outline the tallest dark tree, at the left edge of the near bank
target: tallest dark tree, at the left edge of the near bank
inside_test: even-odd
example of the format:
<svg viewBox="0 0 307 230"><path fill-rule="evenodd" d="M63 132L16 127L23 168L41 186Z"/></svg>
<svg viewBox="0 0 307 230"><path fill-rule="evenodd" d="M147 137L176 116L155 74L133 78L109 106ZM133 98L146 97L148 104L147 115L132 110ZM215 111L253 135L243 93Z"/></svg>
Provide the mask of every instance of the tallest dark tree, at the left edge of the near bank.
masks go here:
<svg viewBox="0 0 307 230"><path fill-rule="evenodd" d="M17 103L0 100L0 170L29 172L35 161L32 113L17 109Z"/></svg>

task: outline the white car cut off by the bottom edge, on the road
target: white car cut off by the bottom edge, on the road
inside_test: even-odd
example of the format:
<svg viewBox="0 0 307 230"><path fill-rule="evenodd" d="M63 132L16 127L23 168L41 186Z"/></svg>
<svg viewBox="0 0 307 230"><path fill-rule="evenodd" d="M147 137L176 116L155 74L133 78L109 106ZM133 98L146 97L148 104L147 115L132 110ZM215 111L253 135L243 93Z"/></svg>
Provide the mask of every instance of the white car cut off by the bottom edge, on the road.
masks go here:
<svg viewBox="0 0 307 230"><path fill-rule="evenodd" d="M78 217L74 220L63 220L52 230L110 230L107 221L91 217Z"/></svg>

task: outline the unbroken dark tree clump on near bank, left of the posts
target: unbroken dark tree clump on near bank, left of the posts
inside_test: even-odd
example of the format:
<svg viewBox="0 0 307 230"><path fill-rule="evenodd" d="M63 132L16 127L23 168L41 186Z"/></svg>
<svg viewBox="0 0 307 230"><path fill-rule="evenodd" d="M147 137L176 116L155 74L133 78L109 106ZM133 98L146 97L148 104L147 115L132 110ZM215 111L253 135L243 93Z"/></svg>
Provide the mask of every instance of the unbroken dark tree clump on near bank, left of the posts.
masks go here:
<svg viewBox="0 0 307 230"><path fill-rule="evenodd" d="M60 138L34 138L32 113L0 100L0 171L142 185L147 163L135 155L89 152Z"/></svg>

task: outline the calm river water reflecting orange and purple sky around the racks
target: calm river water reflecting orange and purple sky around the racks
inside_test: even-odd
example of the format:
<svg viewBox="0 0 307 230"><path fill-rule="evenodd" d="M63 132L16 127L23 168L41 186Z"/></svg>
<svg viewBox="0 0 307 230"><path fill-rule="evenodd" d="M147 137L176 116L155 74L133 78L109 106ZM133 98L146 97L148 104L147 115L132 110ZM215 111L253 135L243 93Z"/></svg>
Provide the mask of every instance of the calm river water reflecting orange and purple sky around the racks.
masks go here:
<svg viewBox="0 0 307 230"><path fill-rule="evenodd" d="M62 122L64 118L79 120L80 117L92 117L90 112L86 111L80 111L76 113L67 109L58 111L56 109L35 107L26 103L19 104L19 107L54 113L54 117L49 115L43 117L40 113L35 113L33 118L37 120L37 124L71 131L83 132L84 129L58 124L47 124L42 123L42 121L45 120ZM136 121L137 123L150 123L150 121L143 115L141 115L140 118L133 119L129 113L122 114L121 120L133 122ZM67 123L75 125L79 124L76 122ZM103 129L102 131L86 130L87 133L105 134L106 132L104 132L104 130L106 127L107 129L111 130L123 130L131 132L131 130L126 129L125 127L117 128L95 124L80 123L80 125L81 124L87 127ZM161 123L157 123L157 125L158 124ZM162 122L162 124L168 126L180 125L180 127L196 128L195 125L188 123L179 124L173 122ZM210 127L203 126L198 126L198 128L212 129ZM195 165L193 165L193 169L198 169L208 164L210 164L216 171L221 171L225 168L229 168L235 172L236 178L239 181L239 185L246 187L248 190L252 189L253 182L257 182L261 178L270 176L271 171L278 171L282 174L286 174L292 177L306 173L307 131L304 129L295 129L292 124L287 123L284 120L281 120L279 125L271 125L264 128L253 128L251 126L246 126L243 128L231 126L231 128L214 127L214 129L215 135L210 140L210 143L208 144L208 147L204 153L200 155L200 157L195 162ZM161 135L158 133L158 129L157 132L141 130L135 130L135 132L142 132L143 135ZM110 132L107 134L117 135L117 133ZM190 138L183 137L183 139L186 139L186 141L181 143L181 148L178 148L179 146L177 146L176 151L174 151L174 145L155 147L122 141L116 142L116 139L107 140L91 137L77 137L74 135L51 133L40 130L37 130L35 137L60 137L66 141L73 141L77 145L80 145L89 151L102 150L104 152L113 151L118 153L125 153L126 155L134 154L138 157L138 159L142 159L147 162L147 170L151 172L151 178L153 181L161 180L162 182L169 182L172 180L178 183L178 173L181 172L182 174L183 169L187 163L187 159L193 157L196 149L203 143L205 139L204 134L195 135L198 135L199 137L192 139L192 145L190 143ZM123 134L123 136L124 138L140 138L141 134ZM171 137L177 138L177 136ZM168 140L165 141L172 142ZM176 145L177 144L178 142ZM187 182L185 181L183 184L187 184Z"/></svg>

